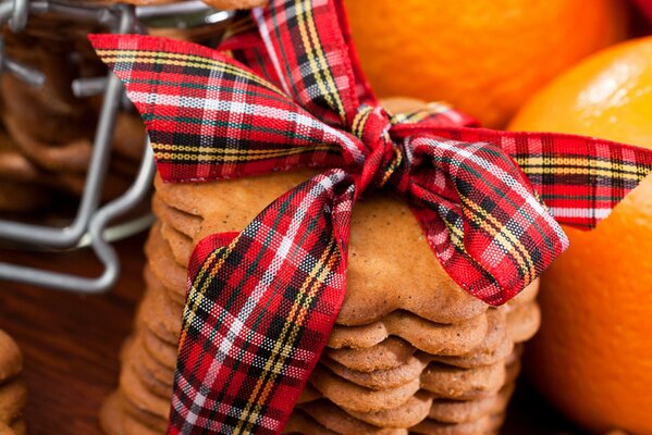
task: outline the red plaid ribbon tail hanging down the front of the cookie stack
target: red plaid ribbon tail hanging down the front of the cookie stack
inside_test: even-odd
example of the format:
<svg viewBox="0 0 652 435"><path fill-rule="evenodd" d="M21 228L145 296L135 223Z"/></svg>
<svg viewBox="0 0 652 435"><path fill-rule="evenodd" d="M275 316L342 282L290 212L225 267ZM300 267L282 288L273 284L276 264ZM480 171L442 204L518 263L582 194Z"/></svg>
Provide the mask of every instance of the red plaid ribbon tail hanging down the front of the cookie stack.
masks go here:
<svg viewBox="0 0 652 435"><path fill-rule="evenodd" d="M197 246L169 434L282 431L344 298L354 189L324 172Z"/></svg>

